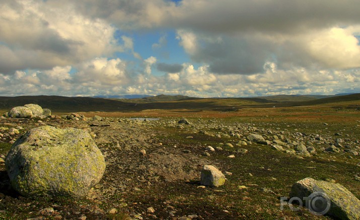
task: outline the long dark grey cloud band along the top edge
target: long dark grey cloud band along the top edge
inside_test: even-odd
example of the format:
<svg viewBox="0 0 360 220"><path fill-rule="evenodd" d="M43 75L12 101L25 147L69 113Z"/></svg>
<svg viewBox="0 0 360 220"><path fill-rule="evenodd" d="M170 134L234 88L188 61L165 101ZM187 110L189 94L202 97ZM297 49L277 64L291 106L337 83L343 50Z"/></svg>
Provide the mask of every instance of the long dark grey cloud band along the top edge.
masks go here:
<svg viewBox="0 0 360 220"><path fill-rule="evenodd" d="M299 33L358 24L360 20L358 0L182 0L177 6L166 0L68 0L68 3L86 16L106 19L122 29Z"/></svg>

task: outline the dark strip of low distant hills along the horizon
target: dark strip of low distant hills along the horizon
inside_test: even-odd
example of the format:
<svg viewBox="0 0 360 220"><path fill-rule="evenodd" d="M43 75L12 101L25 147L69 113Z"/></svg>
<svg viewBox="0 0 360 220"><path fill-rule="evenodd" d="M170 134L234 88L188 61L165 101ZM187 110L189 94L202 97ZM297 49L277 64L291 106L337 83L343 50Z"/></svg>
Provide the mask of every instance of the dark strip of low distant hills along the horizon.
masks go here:
<svg viewBox="0 0 360 220"><path fill-rule="evenodd" d="M288 95L287 98L299 97L299 95ZM176 100L177 99L177 100ZM127 100L127 101L123 101ZM143 97L135 99L108 99L95 97L64 97L64 96L0 96L0 109L8 112L15 106L35 103L44 108L50 108L55 113L69 112L138 112L145 109L193 109L196 111L236 111L245 107L291 107L310 106L317 104L338 106L338 103L352 102L352 106L360 105L360 93L317 98L305 101L294 101L295 99L281 101L270 101L265 98L193 98L182 95L158 95L154 97ZM133 101L133 102L131 102ZM140 102L142 101L142 102ZM345 103L346 104L346 103ZM5 113L4 112L4 113Z"/></svg>

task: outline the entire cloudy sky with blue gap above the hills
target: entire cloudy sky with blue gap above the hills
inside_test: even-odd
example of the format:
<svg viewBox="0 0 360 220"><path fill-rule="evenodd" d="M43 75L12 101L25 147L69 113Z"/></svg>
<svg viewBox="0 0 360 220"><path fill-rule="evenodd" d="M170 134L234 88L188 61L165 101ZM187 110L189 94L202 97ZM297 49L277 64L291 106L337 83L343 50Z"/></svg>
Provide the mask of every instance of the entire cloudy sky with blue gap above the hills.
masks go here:
<svg viewBox="0 0 360 220"><path fill-rule="evenodd" d="M360 92L358 0L0 0L0 95Z"/></svg>

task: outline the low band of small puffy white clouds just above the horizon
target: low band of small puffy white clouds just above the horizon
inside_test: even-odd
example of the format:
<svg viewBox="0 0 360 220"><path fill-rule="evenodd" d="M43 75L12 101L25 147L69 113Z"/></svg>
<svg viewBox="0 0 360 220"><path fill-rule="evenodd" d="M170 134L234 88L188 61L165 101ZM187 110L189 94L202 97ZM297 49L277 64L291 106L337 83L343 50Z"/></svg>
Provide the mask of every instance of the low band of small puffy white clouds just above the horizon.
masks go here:
<svg viewBox="0 0 360 220"><path fill-rule="evenodd" d="M150 63L154 58L149 58ZM77 66L57 66L44 71L16 71L0 74L3 95L96 95L96 94L183 94L198 97L244 97L276 94L334 94L359 92L360 71L281 69L273 62L263 73L219 75L208 66L183 64L177 73L161 76L130 74L125 61L96 58ZM145 72L145 69L144 71Z"/></svg>

